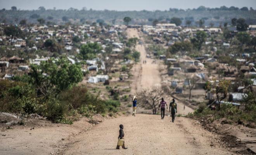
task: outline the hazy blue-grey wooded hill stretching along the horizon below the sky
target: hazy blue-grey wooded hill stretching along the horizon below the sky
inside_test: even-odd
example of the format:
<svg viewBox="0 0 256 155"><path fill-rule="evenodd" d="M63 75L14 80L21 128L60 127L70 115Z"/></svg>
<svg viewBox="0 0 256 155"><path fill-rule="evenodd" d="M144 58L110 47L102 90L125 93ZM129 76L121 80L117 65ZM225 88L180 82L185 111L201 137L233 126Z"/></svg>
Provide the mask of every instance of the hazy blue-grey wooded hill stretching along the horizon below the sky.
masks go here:
<svg viewBox="0 0 256 155"><path fill-rule="evenodd" d="M192 21L191 25L198 24L196 21L204 19L204 25L213 23L214 26L223 25L224 22L231 24L232 18L244 18L247 24L256 24L256 10L243 7L227 8L206 8L199 7L197 9L170 9L156 11L115 11L115 10L78 10L70 8L68 10L45 10L40 7L38 10L0 10L0 22L10 24L18 24L22 19L26 19L27 23L37 23L38 18L45 19L48 24L64 24L66 22L77 24L90 24L92 22L103 22L106 24L123 24L124 17L131 17L131 24L152 24L157 19L158 22L170 22L172 17L178 17L185 25L186 20Z"/></svg>

